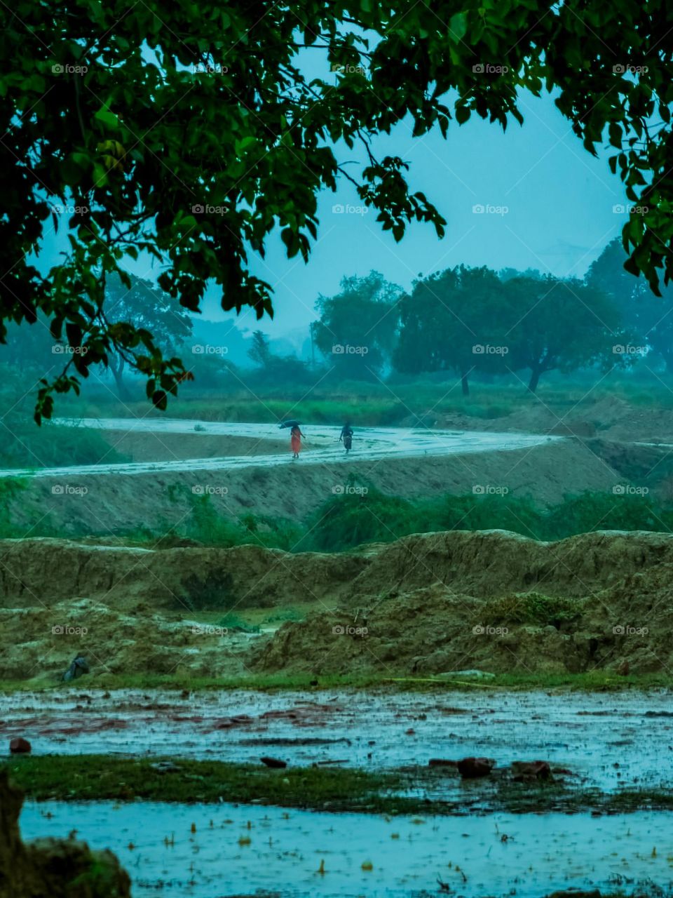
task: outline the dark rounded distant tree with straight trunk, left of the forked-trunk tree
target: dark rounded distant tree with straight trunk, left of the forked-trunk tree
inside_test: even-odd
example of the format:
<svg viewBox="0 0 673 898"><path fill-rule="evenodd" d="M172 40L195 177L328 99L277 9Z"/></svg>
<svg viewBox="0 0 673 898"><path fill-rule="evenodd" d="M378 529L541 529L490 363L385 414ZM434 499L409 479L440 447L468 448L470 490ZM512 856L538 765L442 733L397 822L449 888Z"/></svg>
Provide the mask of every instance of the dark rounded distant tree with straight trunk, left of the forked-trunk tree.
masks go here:
<svg viewBox="0 0 673 898"><path fill-rule="evenodd" d="M416 281L400 302L395 368L455 371L467 396L472 371L503 369L502 293L501 281L485 267L460 266Z"/></svg>

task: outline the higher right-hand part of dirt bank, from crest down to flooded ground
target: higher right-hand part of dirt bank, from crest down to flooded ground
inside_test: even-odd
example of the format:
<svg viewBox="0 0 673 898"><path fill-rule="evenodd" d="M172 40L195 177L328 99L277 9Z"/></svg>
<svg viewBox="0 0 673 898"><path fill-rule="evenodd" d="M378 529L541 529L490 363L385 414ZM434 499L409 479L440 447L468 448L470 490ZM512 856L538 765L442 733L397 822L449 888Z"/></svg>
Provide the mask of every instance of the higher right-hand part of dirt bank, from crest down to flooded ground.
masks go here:
<svg viewBox="0 0 673 898"><path fill-rule="evenodd" d="M379 599L287 623L253 666L312 674L448 674L673 665L673 537L511 533L408 537L372 556L354 594ZM427 585L428 583L432 585Z"/></svg>

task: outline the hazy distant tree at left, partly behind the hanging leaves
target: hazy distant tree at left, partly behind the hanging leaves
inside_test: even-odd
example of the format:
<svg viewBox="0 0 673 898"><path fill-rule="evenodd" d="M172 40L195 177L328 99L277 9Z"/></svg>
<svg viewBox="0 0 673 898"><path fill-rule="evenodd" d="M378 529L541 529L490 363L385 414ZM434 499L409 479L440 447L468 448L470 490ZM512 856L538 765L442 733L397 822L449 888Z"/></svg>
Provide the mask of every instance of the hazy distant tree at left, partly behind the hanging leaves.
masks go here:
<svg viewBox="0 0 673 898"><path fill-rule="evenodd" d="M125 333L129 328L136 331L152 331L153 339L164 356L173 354L191 334L192 321L187 310L182 308L170 295L164 293L151 281L129 275L127 287L117 274L111 274L107 281L105 320L113 333ZM128 398L124 373L127 365L135 367L135 361L119 340L114 344L108 357L109 370L117 385L119 399ZM166 384L169 390L169 384Z"/></svg>

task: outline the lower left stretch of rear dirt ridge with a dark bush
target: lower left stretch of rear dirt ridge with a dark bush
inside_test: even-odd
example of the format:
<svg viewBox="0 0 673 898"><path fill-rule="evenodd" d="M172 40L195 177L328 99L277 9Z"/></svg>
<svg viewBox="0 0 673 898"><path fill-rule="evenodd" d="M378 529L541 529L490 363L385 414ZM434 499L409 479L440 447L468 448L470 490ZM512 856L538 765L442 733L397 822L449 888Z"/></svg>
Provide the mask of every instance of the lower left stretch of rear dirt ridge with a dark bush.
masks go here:
<svg viewBox="0 0 673 898"><path fill-rule="evenodd" d="M258 546L131 549L66 540L0 541L4 607L48 605L74 595L119 610L263 608L329 599L349 591L367 560L357 554L292 554Z"/></svg>

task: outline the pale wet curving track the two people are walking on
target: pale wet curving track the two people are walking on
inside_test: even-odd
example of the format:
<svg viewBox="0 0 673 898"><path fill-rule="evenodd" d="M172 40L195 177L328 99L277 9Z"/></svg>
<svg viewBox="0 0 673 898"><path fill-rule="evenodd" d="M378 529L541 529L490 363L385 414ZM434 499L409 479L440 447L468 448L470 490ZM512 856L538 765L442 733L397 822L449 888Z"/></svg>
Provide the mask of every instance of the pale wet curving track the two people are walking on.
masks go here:
<svg viewBox="0 0 673 898"><path fill-rule="evenodd" d="M148 418L61 418L57 424L72 427L95 427L125 433L170 433L210 436L249 436L257 439L278 439L286 431L269 424L223 423L181 419ZM199 427L195 431L195 427ZM343 444L338 442L338 427L302 425L309 452L302 453L302 464L345 462ZM358 427L354 450L349 460L373 461L383 458L415 457L419 455L453 455L506 451L546 444L562 437L520 433L478 433L455 430L427 430L413 427ZM288 436L289 445L289 436ZM248 467L273 467L287 464L287 453L272 455L232 455L223 458L187 459L170 462L131 462L127 464L70 465L66 468L13 469L0 471L0 477L54 477L62 473L74 474L144 474L152 471L219 471Z"/></svg>

